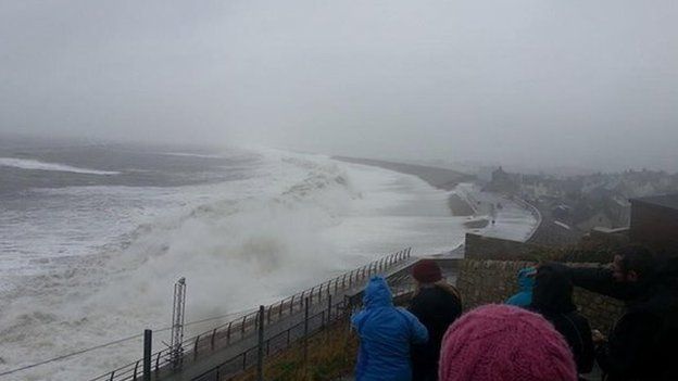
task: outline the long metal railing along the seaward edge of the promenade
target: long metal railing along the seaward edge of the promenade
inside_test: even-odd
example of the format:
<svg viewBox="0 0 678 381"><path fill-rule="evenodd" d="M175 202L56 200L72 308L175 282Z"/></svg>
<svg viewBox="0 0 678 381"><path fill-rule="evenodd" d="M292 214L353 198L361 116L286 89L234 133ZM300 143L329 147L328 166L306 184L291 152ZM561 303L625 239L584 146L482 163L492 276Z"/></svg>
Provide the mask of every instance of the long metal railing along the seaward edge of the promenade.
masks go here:
<svg viewBox="0 0 678 381"><path fill-rule="evenodd" d="M265 307L264 320L266 323L281 319L285 316L302 312L304 300L309 299L311 305L326 301L330 295L340 294L347 290L352 290L357 285L363 285L369 277L382 274L395 267L401 262L411 257L412 247L387 255L377 261L371 262L360 268L335 277L321 284L306 289L302 292L288 296L279 302ZM201 355L210 354L229 344L236 343L250 334L256 332L259 312L254 310L241 317L217 326L209 331L186 339L181 342L184 353L181 357L172 357L172 348L167 347L152 354L152 372L159 372L166 367L180 367L184 359L191 356L197 359ZM247 357L247 355L244 355ZM105 374L90 379L90 381L137 381L142 380L143 359L122 366Z"/></svg>

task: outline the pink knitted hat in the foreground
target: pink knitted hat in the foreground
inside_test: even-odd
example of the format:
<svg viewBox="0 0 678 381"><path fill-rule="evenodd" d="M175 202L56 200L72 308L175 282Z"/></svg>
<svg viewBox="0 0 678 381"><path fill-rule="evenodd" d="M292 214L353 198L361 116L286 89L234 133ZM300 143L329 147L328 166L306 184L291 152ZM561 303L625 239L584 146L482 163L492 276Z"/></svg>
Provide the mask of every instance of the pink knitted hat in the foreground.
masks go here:
<svg viewBox="0 0 678 381"><path fill-rule="evenodd" d="M577 381L565 339L540 315L490 304L457 319L442 339L440 381Z"/></svg>

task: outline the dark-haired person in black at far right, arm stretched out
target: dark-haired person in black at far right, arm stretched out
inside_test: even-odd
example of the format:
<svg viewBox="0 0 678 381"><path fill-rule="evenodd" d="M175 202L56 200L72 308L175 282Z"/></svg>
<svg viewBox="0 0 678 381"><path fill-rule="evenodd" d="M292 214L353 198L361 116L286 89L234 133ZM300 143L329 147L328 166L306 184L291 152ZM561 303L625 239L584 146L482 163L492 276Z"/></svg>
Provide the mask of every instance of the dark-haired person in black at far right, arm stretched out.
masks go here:
<svg viewBox="0 0 678 381"><path fill-rule="evenodd" d="M678 294L649 250L628 246L608 268L567 268L575 285L620 300L623 316L608 338L593 335L595 359L610 381L678 380Z"/></svg>

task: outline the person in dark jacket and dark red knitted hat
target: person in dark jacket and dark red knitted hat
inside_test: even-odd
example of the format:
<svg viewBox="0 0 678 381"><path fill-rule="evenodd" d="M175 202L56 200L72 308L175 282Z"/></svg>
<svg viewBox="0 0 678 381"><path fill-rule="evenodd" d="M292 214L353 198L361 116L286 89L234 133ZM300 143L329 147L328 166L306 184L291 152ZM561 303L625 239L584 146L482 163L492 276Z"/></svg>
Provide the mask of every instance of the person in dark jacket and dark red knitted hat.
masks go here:
<svg viewBox="0 0 678 381"><path fill-rule="evenodd" d="M448 327L462 315L462 301L456 289L442 280L435 261L422 259L412 268L417 291L410 302L410 312L428 330L425 344L412 346L412 374L416 381L438 380L440 343Z"/></svg>

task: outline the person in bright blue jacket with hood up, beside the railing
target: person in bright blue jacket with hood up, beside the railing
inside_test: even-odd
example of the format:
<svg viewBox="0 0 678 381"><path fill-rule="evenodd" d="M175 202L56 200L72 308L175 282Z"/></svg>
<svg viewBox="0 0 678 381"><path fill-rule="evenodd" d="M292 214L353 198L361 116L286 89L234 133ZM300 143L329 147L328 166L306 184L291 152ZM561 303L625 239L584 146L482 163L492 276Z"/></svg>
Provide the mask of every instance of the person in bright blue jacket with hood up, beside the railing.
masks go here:
<svg viewBox="0 0 678 381"><path fill-rule="evenodd" d="M404 308L393 306L393 296L382 277L373 277L365 288L364 308L351 323L360 336L356 381L410 381L410 344L428 341L428 331Z"/></svg>

